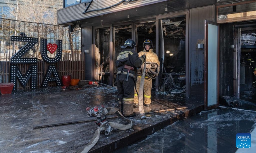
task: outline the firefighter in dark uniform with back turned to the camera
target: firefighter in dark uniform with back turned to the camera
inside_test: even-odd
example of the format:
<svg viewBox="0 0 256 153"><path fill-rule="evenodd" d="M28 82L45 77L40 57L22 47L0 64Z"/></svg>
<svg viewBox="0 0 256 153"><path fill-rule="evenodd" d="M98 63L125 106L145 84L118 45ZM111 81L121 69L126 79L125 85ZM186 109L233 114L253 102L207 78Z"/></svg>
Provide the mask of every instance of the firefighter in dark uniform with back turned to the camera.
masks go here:
<svg viewBox="0 0 256 153"><path fill-rule="evenodd" d="M118 107L124 117L135 116L133 113L134 83L138 67L145 62L146 56L139 57L132 49L136 46L132 39L128 39L121 46L123 50L116 58L116 83L118 91Z"/></svg>

